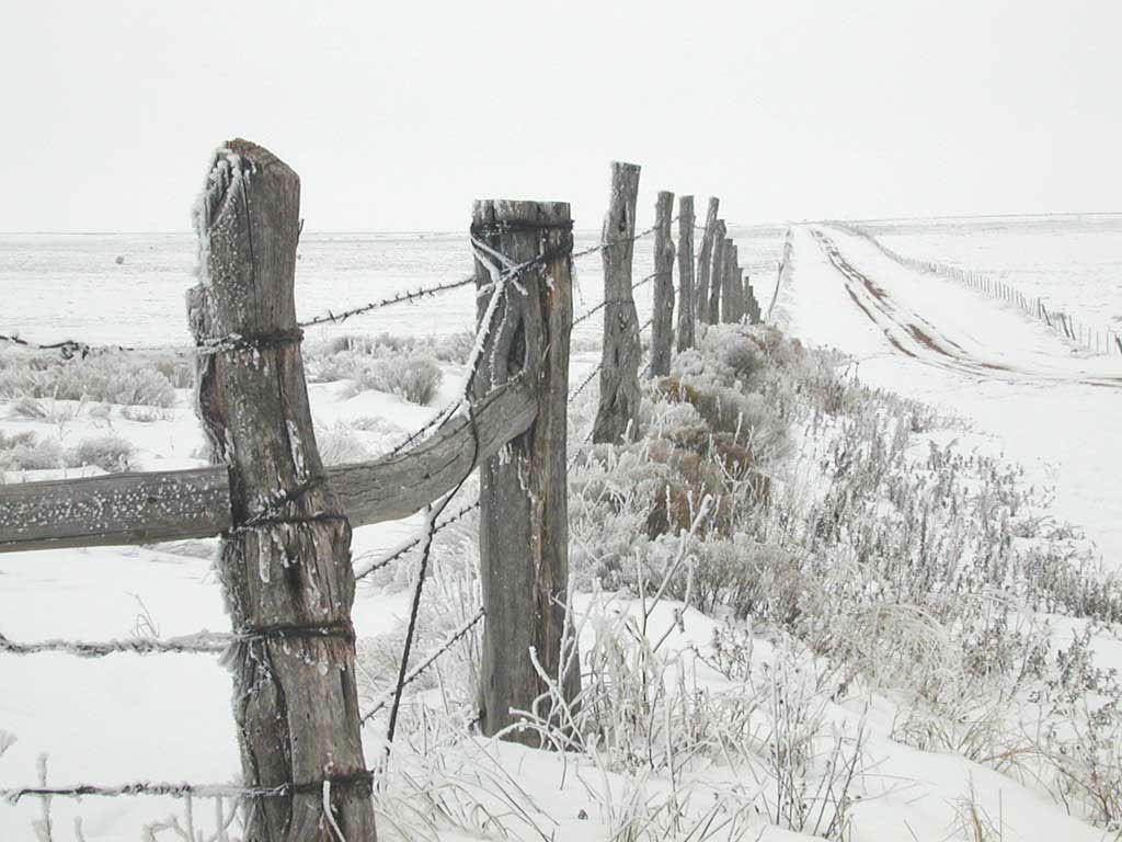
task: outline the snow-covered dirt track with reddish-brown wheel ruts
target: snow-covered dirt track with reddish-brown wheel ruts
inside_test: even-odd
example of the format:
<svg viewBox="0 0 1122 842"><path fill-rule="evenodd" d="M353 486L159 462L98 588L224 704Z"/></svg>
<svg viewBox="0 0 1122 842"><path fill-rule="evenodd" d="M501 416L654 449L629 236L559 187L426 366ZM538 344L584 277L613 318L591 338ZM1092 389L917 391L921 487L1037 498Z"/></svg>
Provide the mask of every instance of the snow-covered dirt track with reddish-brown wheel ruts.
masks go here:
<svg viewBox="0 0 1122 842"><path fill-rule="evenodd" d="M1112 432L1122 358L1079 350L1018 309L901 266L862 237L822 226L794 236L781 296L790 330L852 355L863 381L973 422L990 452L1055 487L1056 514L1122 569L1122 439Z"/></svg>

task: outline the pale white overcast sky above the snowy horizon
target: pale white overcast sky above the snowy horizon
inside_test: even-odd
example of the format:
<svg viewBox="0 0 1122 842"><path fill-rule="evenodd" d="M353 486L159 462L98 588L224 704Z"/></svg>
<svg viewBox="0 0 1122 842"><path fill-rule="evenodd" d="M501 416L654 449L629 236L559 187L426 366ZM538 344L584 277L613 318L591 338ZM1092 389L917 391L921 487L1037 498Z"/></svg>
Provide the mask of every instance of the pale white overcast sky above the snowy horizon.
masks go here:
<svg viewBox="0 0 1122 842"><path fill-rule="evenodd" d="M0 230L186 230L242 136L309 230L456 229L607 163L741 223L1122 209L1122 3L0 0Z"/></svg>

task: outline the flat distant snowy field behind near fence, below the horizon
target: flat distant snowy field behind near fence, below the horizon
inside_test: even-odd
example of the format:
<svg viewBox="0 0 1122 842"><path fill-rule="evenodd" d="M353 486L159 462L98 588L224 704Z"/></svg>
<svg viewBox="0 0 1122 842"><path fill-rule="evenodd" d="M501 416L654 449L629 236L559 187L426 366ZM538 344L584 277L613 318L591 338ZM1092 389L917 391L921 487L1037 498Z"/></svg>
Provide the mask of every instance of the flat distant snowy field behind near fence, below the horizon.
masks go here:
<svg viewBox="0 0 1122 842"><path fill-rule="evenodd" d="M741 263L761 277L770 301L782 229L734 228ZM574 248L599 241L599 230L578 231ZM647 237L635 249L635 278L654 269ZM296 269L301 319L374 301L404 290L454 281L471 273L471 247L463 231L445 234L304 234ZM118 264L117 259L122 263ZM193 235L0 235L0 280L4 306L0 333L19 332L42 342L74 338L125 346L190 345L184 294L194 284ZM577 262L573 295L579 313L603 300L600 259ZM650 284L636 293L641 320L651 314ZM392 308L333 329L442 336L475 328L475 294L456 290L407 308ZM594 338L595 320L576 338Z"/></svg>

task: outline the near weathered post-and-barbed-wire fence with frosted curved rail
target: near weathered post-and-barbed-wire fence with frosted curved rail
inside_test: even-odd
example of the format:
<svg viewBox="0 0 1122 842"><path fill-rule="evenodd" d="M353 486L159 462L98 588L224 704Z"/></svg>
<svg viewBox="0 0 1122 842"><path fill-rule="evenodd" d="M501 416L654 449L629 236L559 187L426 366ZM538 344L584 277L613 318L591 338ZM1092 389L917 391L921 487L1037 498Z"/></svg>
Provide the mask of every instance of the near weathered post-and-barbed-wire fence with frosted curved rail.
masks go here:
<svg viewBox="0 0 1122 842"><path fill-rule="evenodd" d="M736 244L725 237L726 226L717 216L719 200L710 199L695 263L692 196L681 196L680 214L672 217L673 194L660 192L655 225L636 234L638 175L636 165L611 165L609 210L594 247L573 250L567 203L477 201L470 278L297 322L297 176L256 144L232 140L219 149L195 212L204 280L188 293L188 322L196 339L196 412L212 443L214 464L192 470L0 485L0 552L220 536L220 579L236 597L228 600L233 631L163 641L18 643L0 637L0 652L99 657L226 651L237 685L245 786L139 781L47 787L40 781L37 787L2 789L0 797L16 802L22 796L236 796L252 800L247 836L255 836L263 823L311 829L325 820L342 829L349 842L373 840L375 818L367 796L375 772L364 758L360 729L388 706L392 741L404 687L480 621L476 721L488 735L532 742L530 732L515 727L512 711L531 710L548 695L541 670L559 676L569 701L580 686L579 670L561 663L572 633L564 605L567 468L572 464L567 459L568 405L599 377L592 440L618 443L637 438L641 333L647 327L653 332L646 376L662 376L670 368L675 332L672 222L682 222L677 293L688 308L686 317L679 312L679 350L693 347L708 323L758 323L762 317ZM655 272L633 282L634 245L652 234ZM605 300L574 319L573 260L592 254L600 254L604 262ZM790 239L784 250L784 264L789 262ZM654 312L638 324L634 291L650 281L655 282ZM472 283L479 301L478 328L460 399L390 454L324 468L300 356L302 328ZM511 294L513 290L517 294ZM601 360L572 390L572 326L600 310ZM76 340L36 345L10 336L0 340L57 350L66 358L104 350L156 350ZM477 469L479 497L441 519ZM353 527L421 509L426 516L415 539L355 570ZM433 539L476 509L484 604L410 669ZM398 676L392 692L358 714L351 622L355 582L416 548L420 565ZM530 557L535 564L527 566ZM297 559L297 575L288 569L291 559ZM500 586L504 597L493 600ZM322 593L340 598L324 604L318 596ZM323 772L302 780L297 768Z"/></svg>

